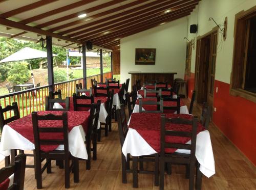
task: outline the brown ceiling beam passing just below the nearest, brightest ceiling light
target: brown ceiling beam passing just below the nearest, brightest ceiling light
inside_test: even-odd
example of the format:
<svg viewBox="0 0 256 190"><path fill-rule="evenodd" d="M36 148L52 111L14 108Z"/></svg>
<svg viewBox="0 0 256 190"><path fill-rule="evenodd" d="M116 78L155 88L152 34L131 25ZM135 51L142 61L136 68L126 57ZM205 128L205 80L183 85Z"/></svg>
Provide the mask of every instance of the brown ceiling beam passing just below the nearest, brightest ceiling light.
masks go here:
<svg viewBox="0 0 256 190"><path fill-rule="evenodd" d="M166 1L175 2L176 0L164 0L164 2L166 2ZM148 3L146 5L142 5L142 6L130 9L128 11L124 11L122 13L118 13L118 14L115 14L115 15L112 15L112 16L109 16L109 17L105 17L105 18L102 18L102 19L99 19L99 20L96 20L96 21L93 21L93 22L90 22L90 23L87 23L87 24L84 24L84 25L76 26L75 28L68 29L66 31L61 31L58 34L63 35L63 34L68 34L68 33L71 33L71 32L75 32L75 31L78 31L78 30L81 30L81 29L84 29L84 28L87 28L87 27L91 27L91 26L93 26L95 24L98 24L98 23L101 23L101 22L109 21L111 19L115 19L117 17L124 16L126 14L131 14L135 11L141 11L142 9L145 9L147 7L150 7L150 6L156 6L159 3L161 3L161 2L159 2L159 1L151 2L151 3ZM122 18L119 18L118 20L121 21ZM117 22L118 20L113 21L113 23Z"/></svg>

